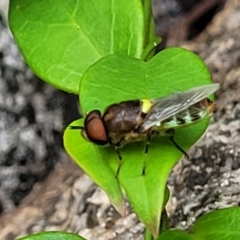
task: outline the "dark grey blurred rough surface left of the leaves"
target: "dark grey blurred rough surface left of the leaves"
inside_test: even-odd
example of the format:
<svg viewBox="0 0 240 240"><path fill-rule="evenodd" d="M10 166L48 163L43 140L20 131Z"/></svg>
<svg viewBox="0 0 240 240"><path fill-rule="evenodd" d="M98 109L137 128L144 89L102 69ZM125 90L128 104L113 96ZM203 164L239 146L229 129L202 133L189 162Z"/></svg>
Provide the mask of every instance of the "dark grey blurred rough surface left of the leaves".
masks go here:
<svg viewBox="0 0 240 240"><path fill-rule="evenodd" d="M1 214L13 210L62 158L63 128L78 115L77 97L37 79L1 22L0 32Z"/></svg>

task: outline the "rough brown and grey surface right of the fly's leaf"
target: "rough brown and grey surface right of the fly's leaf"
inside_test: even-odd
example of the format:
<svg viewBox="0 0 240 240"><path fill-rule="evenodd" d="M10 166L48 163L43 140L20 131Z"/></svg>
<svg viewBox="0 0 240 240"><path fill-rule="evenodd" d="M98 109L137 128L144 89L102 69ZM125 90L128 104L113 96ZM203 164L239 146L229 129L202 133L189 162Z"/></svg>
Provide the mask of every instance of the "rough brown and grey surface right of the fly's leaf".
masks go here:
<svg viewBox="0 0 240 240"><path fill-rule="evenodd" d="M173 224L188 227L211 209L240 202L240 2L228 1L196 41L186 43L209 66L221 89L217 113L205 136L170 178ZM187 196L187 197L186 197Z"/></svg>

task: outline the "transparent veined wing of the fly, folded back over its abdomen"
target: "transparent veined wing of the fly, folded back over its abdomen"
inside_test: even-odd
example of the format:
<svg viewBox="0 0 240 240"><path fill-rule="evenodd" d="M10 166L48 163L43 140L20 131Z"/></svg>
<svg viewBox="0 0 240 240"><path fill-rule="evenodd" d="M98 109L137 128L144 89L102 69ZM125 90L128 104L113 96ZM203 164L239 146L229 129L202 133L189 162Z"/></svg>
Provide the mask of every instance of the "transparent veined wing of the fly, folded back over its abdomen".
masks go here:
<svg viewBox="0 0 240 240"><path fill-rule="evenodd" d="M208 97L217 91L219 84L209 84L192 88L188 91L178 92L166 97L153 99L151 110L145 117L141 126L142 131L148 130L157 123L185 110L193 104Z"/></svg>

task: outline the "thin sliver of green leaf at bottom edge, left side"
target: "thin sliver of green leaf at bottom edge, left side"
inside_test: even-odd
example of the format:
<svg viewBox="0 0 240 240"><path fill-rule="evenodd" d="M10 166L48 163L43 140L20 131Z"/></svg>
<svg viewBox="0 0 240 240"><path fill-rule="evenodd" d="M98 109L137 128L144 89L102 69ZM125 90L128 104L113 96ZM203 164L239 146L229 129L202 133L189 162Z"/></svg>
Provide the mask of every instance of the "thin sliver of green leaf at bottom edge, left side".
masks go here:
<svg viewBox="0 0 240 240"><path fill-rule="evenodd" d="M19 240L85 240L77 234L67 232L42 232L37 234L28 235Z"/></svg>

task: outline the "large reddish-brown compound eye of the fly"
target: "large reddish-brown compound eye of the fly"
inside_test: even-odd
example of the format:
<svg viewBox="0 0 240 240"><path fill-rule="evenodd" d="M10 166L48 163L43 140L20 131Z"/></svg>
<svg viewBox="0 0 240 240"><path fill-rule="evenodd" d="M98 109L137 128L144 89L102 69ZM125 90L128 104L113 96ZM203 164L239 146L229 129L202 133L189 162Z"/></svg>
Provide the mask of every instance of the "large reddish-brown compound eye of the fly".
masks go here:
<svg viewBox="0 0 240 240"><path fill-rule="evenodd" d="M98 145L108 143L107 132L100 111L93 110L88 113L84 122L83 136Z"/></svg>

